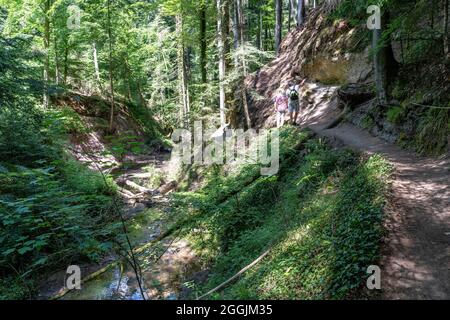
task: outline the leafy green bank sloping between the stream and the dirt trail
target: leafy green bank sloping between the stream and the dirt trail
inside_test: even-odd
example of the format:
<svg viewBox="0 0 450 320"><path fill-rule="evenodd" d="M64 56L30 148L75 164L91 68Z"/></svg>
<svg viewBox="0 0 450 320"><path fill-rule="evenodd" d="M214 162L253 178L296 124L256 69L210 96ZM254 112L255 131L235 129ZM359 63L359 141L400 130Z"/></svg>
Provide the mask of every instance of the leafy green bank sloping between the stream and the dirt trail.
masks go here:
<svg viewBox="0 0 450 320"><path fill-rule="evenodd" d="M280 171L257 165L211 168L196 192L176 195L205 268L206 283L189 283L192 298L207 292L271 248L237 282L209 298L346 298L377 262L389 166L379 156L333 150L310 132L282 129ZM237 171L237 173L236 173Z"/></svg>

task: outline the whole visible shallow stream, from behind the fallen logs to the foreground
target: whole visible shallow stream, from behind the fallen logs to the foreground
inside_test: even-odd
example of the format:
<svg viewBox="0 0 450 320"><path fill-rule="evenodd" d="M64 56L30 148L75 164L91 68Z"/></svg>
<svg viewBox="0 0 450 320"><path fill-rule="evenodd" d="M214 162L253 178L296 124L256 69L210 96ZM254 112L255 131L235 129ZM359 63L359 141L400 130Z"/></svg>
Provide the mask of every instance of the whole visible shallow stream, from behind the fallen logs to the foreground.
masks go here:
<svg viewBox="0 0 450 320"><path fill-rule="evenodd" d="M117 179L121 175L140 174L143 167L149 163L158 167L166 166L167 155L131 159L132 168L121 168L115 172ZM145 181L138 181L145 185ZM152 207L136 202L128 203L128 212L132 218L127 221L127 230L133 247L139 248L151 240L157 238L166 228L174 223L175 217L168 207L167 202L156 202ZM183 297L185 286L183 282L189 276L200 271L199 262L189 244L177 238L177 235L169 236L158 243L154 243L137 255L142 274L142 286L146 299L178 299ZM113 260L114 261L114 258ZM63 295L61 300L142 300L136 274L132 267L120 257L117 263L95 278L82 283L80 290L72 290ZM100 265L92 265L89 272L98 270ZM57 283L61 283L65 272L55 274ZM88 274L82 274L82 278ZM61 280L61 282L60 282ZM48 285L51 287L51 285ZM60 287L57 288L59 290ZM43 297L55 294L45 294L52 291L43 289Z"/></svg>

